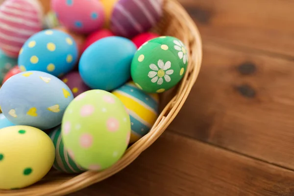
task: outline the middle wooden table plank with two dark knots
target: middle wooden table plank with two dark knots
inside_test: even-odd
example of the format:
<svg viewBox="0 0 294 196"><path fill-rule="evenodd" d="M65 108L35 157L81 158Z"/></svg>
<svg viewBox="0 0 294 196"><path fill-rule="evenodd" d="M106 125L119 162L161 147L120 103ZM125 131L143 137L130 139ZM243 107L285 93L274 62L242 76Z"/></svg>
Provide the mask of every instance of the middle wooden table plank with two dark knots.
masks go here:
<svg viewBox="0 0 294 196"><path fill-rule="evenodd" d="M209 41L203 52L196 84L170 128L294 169L293 63Z"/></svg>

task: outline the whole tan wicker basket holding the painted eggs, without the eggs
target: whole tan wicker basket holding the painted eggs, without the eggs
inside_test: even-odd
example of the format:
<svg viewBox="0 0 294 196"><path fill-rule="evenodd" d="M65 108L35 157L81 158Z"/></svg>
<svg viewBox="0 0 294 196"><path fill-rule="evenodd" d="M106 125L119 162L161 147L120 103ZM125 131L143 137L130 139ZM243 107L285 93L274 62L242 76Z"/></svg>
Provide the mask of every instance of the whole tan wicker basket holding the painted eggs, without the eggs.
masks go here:
<svg viewBox="0 0 294 196"><path fill-rule="evenodd" d="M184 78L172 90L175 95L164 107L150 132L129 147L120 161L102 172L84 172L74 176L51 170L37 184L20 190L0 191L0 196L63 196L76 192L123 170L164 132L181 109L196 81L202 61L202 43L195 23L176 0L165 0L164 17L152 31L181 39L190 53Z"/></svg>

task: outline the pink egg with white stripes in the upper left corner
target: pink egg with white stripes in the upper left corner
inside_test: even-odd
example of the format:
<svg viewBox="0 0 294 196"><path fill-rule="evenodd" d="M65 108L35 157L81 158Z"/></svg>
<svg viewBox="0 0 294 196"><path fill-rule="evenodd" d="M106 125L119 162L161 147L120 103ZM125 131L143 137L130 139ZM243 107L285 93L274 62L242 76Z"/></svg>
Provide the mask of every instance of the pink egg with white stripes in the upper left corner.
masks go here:
<svg viewBox="0 0 294 196"><path fill-rule="evenodd" d="M25 41L42 30L42 7L37 0L5 0L0 15L0 49L17 57Z"/></svg>

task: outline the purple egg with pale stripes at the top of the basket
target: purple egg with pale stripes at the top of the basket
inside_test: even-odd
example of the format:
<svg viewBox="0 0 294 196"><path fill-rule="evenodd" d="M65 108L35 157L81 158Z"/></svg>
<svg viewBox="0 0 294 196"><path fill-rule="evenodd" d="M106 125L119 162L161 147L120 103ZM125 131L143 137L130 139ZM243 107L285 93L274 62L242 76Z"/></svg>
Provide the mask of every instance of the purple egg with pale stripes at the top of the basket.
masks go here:
<svg viewBox="0 0 294 196"><path fill-rule="evenodd" d="M146 32L161 18L162 5L163 0L119 0L113 8L110 29L128 38Z"/></svg>

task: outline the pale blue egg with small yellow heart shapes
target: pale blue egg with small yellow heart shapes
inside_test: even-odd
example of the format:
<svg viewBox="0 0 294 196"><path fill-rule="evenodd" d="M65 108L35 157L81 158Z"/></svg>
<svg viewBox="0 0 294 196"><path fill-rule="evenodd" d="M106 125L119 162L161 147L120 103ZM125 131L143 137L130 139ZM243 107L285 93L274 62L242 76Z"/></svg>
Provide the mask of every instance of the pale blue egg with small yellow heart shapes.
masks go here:
<svg viewBox="0 0 294 196"><path fill-rule="evenodd" d="M18 73L0 88L0 106L14 124L50 129L59 125L73 100L69 87L49 73Z"/></svg>

